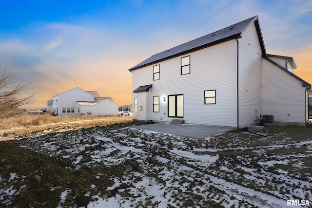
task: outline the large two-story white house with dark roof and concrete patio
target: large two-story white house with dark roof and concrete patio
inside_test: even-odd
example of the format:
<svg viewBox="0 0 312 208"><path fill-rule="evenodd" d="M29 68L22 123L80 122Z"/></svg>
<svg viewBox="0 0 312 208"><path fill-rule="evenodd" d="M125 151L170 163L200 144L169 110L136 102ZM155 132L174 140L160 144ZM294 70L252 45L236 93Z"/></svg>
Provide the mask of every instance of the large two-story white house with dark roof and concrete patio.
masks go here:
<svg viewBox="0 0 312 208"><path fill-rule="evenodd" d="M129 69L133 118L241 128L264 114L305 125L311 84L296 68L292 57L268 55L258 17L246 19Z"/></svg>

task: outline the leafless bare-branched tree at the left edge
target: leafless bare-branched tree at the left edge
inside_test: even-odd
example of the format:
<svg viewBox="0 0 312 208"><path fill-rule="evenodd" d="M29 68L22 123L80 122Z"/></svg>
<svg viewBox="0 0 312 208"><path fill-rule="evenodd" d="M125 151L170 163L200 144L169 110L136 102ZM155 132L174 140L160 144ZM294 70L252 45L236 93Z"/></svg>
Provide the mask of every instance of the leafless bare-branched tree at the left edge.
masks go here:
<svg viewBox="0 0 312 208"><path fill-rule="evenodd" d="M23 84L13 66L0 61L0 118L19 115L20 107L37 101L30 83Z"/></svg>

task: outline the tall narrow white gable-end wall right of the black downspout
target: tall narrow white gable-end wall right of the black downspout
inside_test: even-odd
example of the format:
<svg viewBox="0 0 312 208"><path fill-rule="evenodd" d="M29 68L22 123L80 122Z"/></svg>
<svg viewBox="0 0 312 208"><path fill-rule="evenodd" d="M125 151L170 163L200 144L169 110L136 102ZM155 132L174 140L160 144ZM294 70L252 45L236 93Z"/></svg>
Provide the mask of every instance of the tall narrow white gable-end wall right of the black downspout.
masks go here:
<svg viewBox="0 0 312 208"><path fill-rule="evenodd" d="M262 114L262 51L254 24L238 42L238 126L245 127Z"/></svg>

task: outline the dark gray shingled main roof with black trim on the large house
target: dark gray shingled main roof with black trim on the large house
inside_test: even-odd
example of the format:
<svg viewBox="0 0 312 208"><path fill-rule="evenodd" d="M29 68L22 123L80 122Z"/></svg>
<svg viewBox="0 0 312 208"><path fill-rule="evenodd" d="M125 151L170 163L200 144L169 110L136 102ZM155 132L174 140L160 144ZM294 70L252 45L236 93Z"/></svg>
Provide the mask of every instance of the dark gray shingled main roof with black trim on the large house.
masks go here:
<svg viewBox="0 0 312 208"><path fill-rule="evenodd" d="M197 51L212 45L215 45L220 42L224 42L234 38L242 38L242 33L255 22L256 30L258 33L260 45L262 48L262 54L266 55L266 51L263 44L262 34L258 22L258 17L252 17L241 22L238 22L234 25L216 31L214 33L208 34L201 38L197 38L195 40L183 43L182 45L176 46L174 48L168 49L166 51L160 52L158 54L153 55L152 57L147 58L141 63L129 69L129 71L133 71L144 66L148 66L151 64L155 64L159 61L167 60L169 58L181 56L183 54L187 54L193 51Z"/></svg>

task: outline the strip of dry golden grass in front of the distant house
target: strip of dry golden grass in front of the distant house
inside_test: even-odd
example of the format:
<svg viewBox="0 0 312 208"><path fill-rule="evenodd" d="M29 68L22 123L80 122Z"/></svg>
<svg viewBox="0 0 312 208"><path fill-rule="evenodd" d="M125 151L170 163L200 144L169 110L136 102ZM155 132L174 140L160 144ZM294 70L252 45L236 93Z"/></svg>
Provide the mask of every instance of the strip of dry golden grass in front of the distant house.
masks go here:
<svg viewBox="0 0 312 208"><path fill-rule="evenodd" d="M102 117L96 115L53 116L49 113L43 115L21 114L15 117L0 119L0 130L101 118Z"/></svg>

